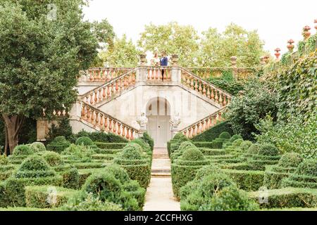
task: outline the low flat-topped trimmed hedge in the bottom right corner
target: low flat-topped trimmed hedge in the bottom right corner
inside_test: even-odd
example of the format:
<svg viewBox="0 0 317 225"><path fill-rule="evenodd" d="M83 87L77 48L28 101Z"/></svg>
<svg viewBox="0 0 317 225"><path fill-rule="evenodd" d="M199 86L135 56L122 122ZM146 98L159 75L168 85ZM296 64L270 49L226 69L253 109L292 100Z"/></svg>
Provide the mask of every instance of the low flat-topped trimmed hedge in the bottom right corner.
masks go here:
<svg viewBox="0 0 317 225"><path fill-rule="evenodd" d="M249 193L251 198L258 200L263 193L259 191ZM268 190L268 203L260 206L263 208L282 207L317 207L317 189L309 188L280 188Z"/></svg>

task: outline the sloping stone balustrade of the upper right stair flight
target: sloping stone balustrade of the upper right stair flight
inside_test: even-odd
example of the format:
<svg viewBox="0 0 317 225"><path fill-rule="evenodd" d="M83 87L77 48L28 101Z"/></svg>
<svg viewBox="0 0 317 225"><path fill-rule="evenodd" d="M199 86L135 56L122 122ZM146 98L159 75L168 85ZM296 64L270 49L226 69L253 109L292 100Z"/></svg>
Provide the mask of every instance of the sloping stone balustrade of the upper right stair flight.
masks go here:
<svg viewBox="0 0 317 225"><path fill-rule="evenodd" d="M182 84L188 86L189 89L199 92L200 94L210 98L212 101L219 103L222 106L230 103L232 96L228 92L219 89L213 84L204 81L201 77L194 75L194 73L181 68L182 72Z"/></svg>

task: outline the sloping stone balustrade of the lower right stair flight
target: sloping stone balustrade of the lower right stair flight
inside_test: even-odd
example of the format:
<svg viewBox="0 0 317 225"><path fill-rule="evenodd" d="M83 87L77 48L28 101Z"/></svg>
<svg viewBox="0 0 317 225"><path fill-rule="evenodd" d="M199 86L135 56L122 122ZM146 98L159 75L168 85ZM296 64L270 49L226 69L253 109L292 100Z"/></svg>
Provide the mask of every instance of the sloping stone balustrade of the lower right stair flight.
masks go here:
<svg viewBox="0 0 317 225"><path fill-rule="evenodd" d="M224 109L225 107L220 108L220 110L216 111L215 113L207 117L204 117L204 119L199 120L198 122L195 122L194 124L191 124L188 127L185 127L180 132L187 136L187 138L189 139L191 139L194 136L197 136L198 134L201 134L207 129L215 126L217 122L223 121L222 115Z"/></svg>

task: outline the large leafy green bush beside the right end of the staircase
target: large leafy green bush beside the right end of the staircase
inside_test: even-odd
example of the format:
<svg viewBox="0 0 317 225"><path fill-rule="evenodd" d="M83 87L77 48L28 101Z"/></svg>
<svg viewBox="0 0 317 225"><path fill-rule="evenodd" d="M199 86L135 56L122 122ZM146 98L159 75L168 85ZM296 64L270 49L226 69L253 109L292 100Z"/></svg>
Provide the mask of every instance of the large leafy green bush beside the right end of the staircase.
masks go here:
<svg viewBox="0 0 317 225"><path fill-rule="evenodd" d="M259 134L259 130L256 129L259 120L266 115L275 118L277 113L276 95L254 80L246 85L242 96L235 96L232 99L225 118L236 134L241 134L248 140L254 139L253 133Z"/></svg>

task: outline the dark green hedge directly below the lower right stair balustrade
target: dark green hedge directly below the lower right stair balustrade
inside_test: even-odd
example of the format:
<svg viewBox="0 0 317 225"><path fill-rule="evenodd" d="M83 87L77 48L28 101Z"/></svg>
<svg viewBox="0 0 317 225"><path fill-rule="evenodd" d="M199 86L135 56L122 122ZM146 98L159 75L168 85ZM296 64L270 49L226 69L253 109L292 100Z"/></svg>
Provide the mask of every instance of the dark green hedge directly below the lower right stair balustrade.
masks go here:
<svg viewBox="0 0 317 225"><path fill-rule="evenodd" d="M218 136L223 132L228 132L230 135L233 134L232 128L228 122L220 122L216 124L216 126L211 127L211 129L208 129L203 133L194 136L194 138L192 138L192 141L213 141L214 139L218 138Z"/></svg>

